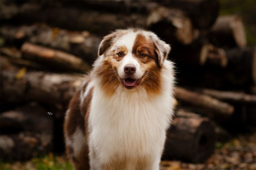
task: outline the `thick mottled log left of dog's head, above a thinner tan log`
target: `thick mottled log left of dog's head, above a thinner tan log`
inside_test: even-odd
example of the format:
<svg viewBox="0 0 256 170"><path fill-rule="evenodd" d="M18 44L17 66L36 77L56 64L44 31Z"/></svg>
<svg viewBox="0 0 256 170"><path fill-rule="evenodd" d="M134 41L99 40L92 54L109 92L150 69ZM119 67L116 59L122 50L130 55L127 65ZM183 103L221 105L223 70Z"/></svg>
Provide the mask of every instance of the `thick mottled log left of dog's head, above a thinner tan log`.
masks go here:
<svg viewBox="0 0 256 170"><path fill-rule="evenodd" d="M67 31L42 24L22 27L3 26L1 35L7 45L16 45L19 48L27 41L74 54L90 63L97 57L101 40L88 31Z"/></svg>

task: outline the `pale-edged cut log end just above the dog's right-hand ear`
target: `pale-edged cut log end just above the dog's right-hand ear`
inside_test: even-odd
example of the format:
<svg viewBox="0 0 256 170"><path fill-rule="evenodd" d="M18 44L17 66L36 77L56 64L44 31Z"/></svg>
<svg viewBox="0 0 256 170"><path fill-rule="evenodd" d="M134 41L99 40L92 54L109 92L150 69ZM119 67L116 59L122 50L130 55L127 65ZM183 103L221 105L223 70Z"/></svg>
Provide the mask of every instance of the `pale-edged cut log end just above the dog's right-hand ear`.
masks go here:
<svg viewBox="0 0 256 170"><path fill-rule="evenodd" d="M199 31L194 29L191 20L186 17L184 11L178 9L158 7L148 16L147 26L160 38L171 44L188 45L199 37ZM163 29L163 27L169 29ZM174 32L172 33L172 31Z"/></svg>

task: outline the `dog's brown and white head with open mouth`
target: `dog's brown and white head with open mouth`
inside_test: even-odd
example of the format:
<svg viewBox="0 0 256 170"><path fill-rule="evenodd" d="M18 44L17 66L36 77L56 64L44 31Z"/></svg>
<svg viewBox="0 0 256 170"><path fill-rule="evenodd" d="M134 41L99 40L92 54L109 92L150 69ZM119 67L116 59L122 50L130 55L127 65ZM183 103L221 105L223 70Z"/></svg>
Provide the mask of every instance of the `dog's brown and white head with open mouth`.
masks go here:
<svg viewBox="0 0 256 170"><path fill-rule="evenodd" d="M153 32L116 30L105 36L99 46L102 83L109 90L122 85L125 89L143 86L154 91L161 85L159 74L169 51L170 46Z"/></svg>

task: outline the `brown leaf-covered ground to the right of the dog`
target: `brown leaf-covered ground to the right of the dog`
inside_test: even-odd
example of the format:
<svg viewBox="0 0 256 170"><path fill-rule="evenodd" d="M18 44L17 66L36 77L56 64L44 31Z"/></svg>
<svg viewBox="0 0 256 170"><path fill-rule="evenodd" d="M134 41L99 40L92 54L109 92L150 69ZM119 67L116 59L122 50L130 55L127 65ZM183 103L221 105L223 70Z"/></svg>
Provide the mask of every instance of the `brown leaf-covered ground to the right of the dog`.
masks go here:
<svg viewBox="0 0 256 170"><path fill-rule="evenodd" d="M256 133L239 135L227 143L216 143L214 154L202 164L162 161L163 169L256 169Z"/></svg>

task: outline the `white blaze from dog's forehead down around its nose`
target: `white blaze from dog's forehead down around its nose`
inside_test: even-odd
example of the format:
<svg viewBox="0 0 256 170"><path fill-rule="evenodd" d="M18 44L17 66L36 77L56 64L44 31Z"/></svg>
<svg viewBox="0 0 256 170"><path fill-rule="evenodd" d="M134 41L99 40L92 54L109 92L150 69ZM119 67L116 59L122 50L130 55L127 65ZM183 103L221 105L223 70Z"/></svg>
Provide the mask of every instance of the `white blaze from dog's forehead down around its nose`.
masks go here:
<svg viewBox="0 0 256 170"><path fill-rule="evenodd" d="M137 33L130 32L125 35L123 35L119 40L116 41L117 46L125 46L127 49L127 54L124 56L124 58L120 61L121 64L118 68L118 74L120 78L125 78L127 74L124 72L124 67L127 64L132 64L136 67L136 72L133 74L134 79L140 79L143 76L143 73L141 72L140 63L137 61L136 58L133 57L132 54L132 48L134 45L134 42L136 40Z"/></svg>

